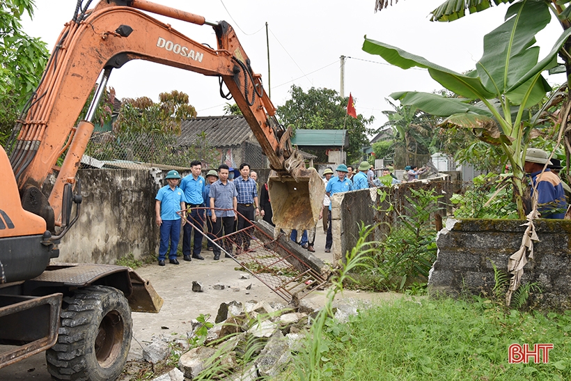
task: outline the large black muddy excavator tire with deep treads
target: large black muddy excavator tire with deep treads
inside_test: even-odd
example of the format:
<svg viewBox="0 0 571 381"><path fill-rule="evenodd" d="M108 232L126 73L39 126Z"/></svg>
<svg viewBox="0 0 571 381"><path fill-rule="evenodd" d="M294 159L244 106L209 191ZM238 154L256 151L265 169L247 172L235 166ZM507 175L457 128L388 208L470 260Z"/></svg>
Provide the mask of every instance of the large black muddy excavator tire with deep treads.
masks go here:
<svg viewBox="0 0 571 381"><path fill-rule="evenodd" d="M131 346L132 319L127 299L116 288L89 286L65 297L56 345L47 350L54 380L116 380Z"/></svg>

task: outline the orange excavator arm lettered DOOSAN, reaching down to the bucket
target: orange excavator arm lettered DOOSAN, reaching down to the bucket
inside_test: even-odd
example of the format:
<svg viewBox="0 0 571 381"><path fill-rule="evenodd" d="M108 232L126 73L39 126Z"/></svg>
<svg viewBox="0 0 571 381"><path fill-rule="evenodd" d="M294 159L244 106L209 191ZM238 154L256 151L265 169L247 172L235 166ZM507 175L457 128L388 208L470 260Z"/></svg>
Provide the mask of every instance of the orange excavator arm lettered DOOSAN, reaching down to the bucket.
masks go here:
<svg viewBox="0 0 571 381"><path fill-rule="evenodd" d="M143 11L212 26L217 49L191 40ZM272 182L283 184L274 187L272 202L277 197L276 207L287 205L286 199L293 193L295 199L299 199L300 182L305 185L302 199L311 196L310 182L316 187L322 186L317 182L317 172L305 169L301 155L292 148L291 130L285 130L277 122L276 109L262 86L261 77L251 69L249 58L228 23L208 22L204 17L146 0L100 1L92 10L81 12L79 9L74 20L65 24L35 97L24 118L18 121L7 146L23 207L43 217L49 230L53 230L54 225L61 226L62 220L68 223L65 209L68 209L69 196L65 193L70 194L70 188L75 185L81 156L93 132L91 118L81 121L77 127L75 120L101 73L104 72L102 82L106 82L113 68L120 68L133 59L217 76L224 81L275 171L270 187ZM104 88L100 84L101 87ZM95 107L92 104L90 115ZM63 153L63 164L56 166ZM47 200L38 201L41 194L38 189L42 189L52 171L57 173L52 192ZM298 186L288 187L286 184L291 181ZM318 198L315 196L315 200ZM315 226L321 201L312 203L315 211L311 218L304 214L303 221L292 221L288 217L288 222L277 225ZM279 216L280 211L274 210ZM40 230L33 233L43 233Z"/></svg>

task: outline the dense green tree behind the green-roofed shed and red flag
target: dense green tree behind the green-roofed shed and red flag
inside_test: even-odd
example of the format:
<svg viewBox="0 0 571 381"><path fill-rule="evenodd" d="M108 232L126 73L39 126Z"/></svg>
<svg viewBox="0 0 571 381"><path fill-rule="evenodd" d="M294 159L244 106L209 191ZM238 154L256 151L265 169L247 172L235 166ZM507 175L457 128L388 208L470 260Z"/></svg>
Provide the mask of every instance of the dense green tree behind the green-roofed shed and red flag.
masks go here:
<svg viewBox="0 0 571 381"><path fill-rule="evenodd" d="M329 88L310 88L307 93L299 86L292 85L291 99L277 108L277 114L284 125L294 125L302 130L347 130L349 148L347 162L359 162L363 156L363 146L368 146L368 124L374 117L357 118L347 116L348 98L343 98ZM315 152L318 160L325 161L324 153Z"/></svg>

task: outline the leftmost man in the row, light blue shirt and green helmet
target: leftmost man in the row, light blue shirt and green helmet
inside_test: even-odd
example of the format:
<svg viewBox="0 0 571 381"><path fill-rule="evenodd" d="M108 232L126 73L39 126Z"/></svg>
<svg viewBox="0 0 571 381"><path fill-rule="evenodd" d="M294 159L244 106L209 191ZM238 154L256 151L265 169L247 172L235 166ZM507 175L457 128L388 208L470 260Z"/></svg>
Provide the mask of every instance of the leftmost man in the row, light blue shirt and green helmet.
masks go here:
<svg viewBox="0 0 571 381"><path fill-rule="evenodd" d="M164 266L166 251L169 249L169 238L171 241L171 251L169 251L169 262L178 265L176 259L176 251L178 249L178 239L180 238L181 219L178 211L182 210L182 225L185 225L185 192L182 192L178 185L180 174L178 171L169 171L166 173L165 185L155 197L155 213L156 221L161 234L161 243L159 245L159 266Z"/></svg>

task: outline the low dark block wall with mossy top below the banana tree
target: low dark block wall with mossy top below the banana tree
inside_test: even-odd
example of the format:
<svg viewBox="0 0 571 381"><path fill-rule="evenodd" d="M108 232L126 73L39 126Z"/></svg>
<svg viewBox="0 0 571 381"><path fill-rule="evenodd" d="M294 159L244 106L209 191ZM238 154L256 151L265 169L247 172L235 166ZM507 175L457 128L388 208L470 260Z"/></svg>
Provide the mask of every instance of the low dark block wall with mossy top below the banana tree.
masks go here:
<svg viewBox="0 0 571 381"><path fill-rule="evenodd" d="M437 238L438 257L432 267L430 290L458 295L462 290L492 294L492 263L507 275L508 258L519 249L524 221L501 219L449 219ZM571 309L571 221L539 219L535 229L540 242L533 261L524 267L522 284L538 282L542 293L529 297L530 306Z"/></svg>

